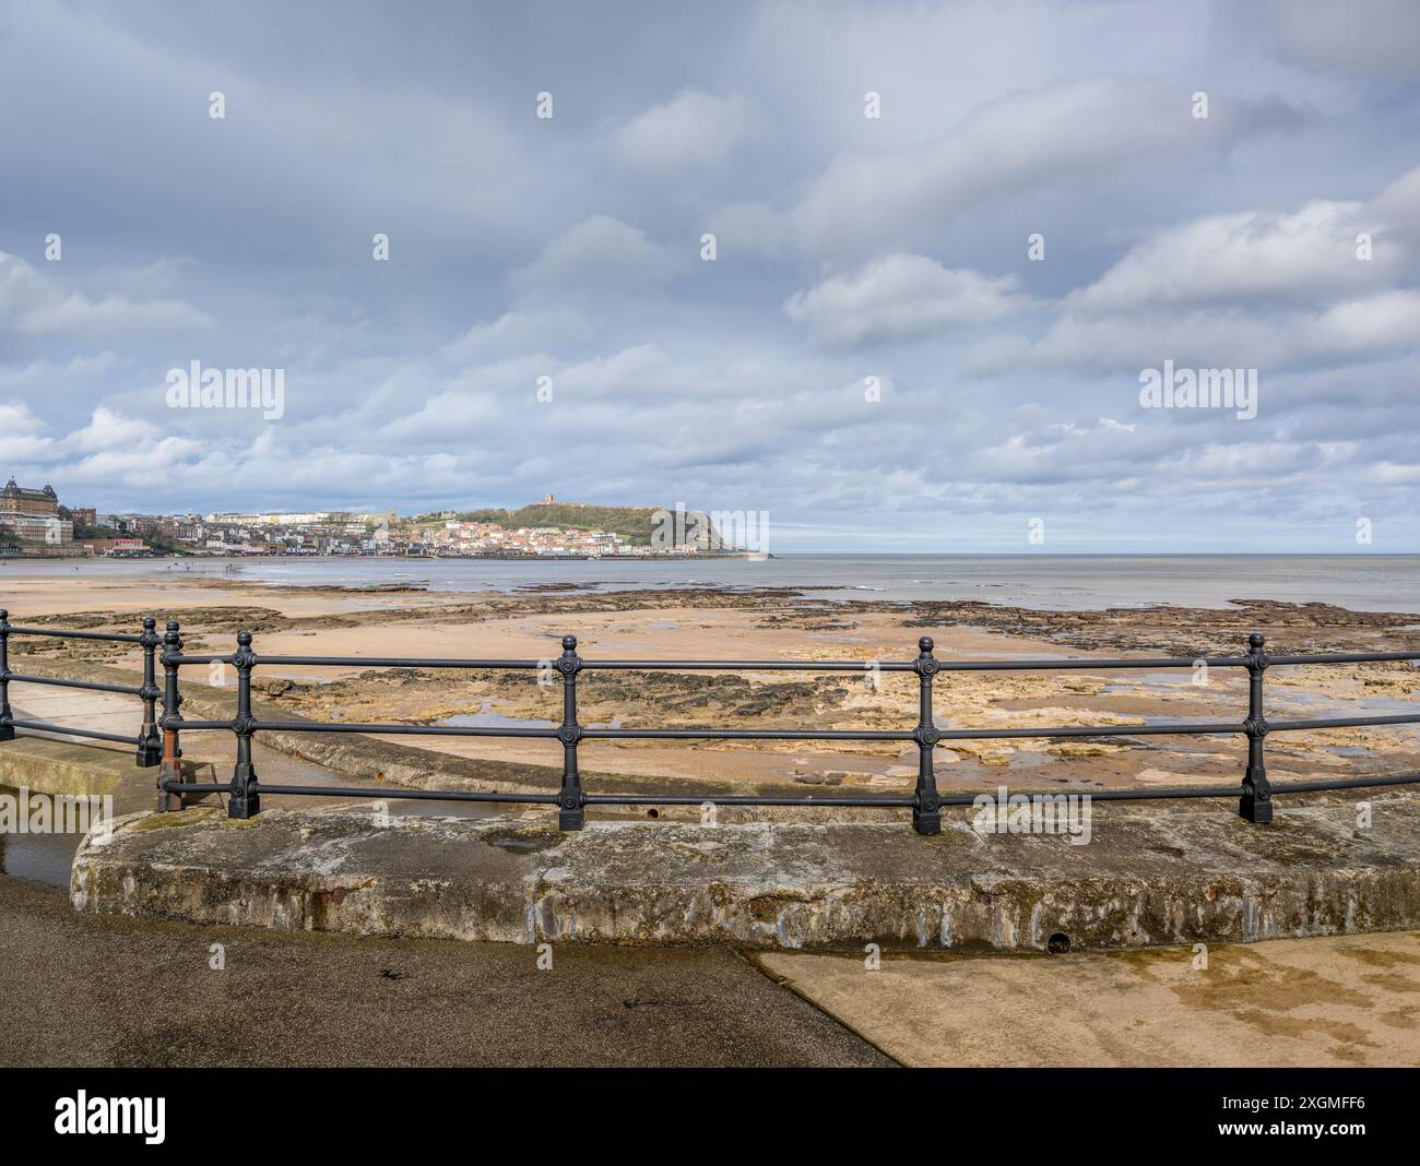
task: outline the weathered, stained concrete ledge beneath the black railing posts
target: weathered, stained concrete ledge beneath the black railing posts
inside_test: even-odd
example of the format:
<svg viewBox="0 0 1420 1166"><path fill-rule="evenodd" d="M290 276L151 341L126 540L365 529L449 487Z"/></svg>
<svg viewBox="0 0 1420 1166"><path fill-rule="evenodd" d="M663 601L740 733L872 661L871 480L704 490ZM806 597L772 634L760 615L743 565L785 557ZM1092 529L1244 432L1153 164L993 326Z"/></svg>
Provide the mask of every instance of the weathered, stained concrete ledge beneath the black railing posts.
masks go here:
<svg viewBox="0 0 1420 1166"><path fill-rule="evenodd" d="M1420 926L1420 801L1268 827L1096 807L1088 845L902 824L133 814L74 861L80 911L285 931L758 948L1042 950Z"/></svg>

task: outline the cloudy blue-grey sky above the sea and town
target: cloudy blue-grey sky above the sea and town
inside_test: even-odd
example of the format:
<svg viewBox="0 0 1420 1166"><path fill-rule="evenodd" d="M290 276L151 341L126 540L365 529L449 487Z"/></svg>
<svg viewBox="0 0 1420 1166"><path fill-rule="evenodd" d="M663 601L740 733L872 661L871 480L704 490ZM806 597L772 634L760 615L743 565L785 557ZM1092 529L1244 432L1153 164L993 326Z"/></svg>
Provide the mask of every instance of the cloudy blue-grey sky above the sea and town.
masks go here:
<svg viewBox="0 0 1420 1166"><path fill-rule="evenodd" d="M0 474L71 505L1420 549L1407 0L37 0L0 109Z"/></svg>

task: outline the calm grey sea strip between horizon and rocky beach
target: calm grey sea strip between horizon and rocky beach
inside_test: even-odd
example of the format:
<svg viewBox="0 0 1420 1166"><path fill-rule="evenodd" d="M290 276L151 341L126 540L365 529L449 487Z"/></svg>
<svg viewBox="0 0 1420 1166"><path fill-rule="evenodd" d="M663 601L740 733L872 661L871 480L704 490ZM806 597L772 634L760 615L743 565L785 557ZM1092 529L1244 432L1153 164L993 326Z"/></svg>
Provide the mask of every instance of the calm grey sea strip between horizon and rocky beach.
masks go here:
<svg viewBox="0 0 1420 1166"><path fill-rule="evenodd" d="M227 566L231 570L227 570ZM98 559L0 565L7 577L182 576L295 586L403 583L510 590L548 583L633 587L804 587L832 599L981 600L1044 610L1223 607L1230 600L1335 603L1420 614L1420 555L784 555L692 562L470 559Z"/></svg>

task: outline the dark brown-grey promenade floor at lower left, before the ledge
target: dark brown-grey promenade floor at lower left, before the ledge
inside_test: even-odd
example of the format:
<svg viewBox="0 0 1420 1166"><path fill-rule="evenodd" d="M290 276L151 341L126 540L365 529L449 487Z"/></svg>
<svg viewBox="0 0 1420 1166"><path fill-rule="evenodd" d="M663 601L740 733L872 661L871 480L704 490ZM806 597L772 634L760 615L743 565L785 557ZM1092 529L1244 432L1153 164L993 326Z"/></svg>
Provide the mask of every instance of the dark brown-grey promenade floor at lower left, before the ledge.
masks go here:
<svg viewBox="0 0 1420 1166"><path fill-rule="evenodd" d="M80 915L62 891L0 877L0 1064L892 1064L724 948L537 960L511 943Z"/></svg>

